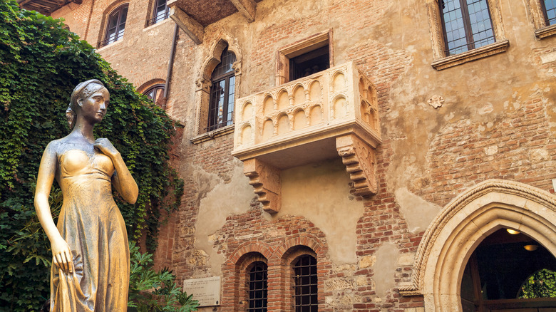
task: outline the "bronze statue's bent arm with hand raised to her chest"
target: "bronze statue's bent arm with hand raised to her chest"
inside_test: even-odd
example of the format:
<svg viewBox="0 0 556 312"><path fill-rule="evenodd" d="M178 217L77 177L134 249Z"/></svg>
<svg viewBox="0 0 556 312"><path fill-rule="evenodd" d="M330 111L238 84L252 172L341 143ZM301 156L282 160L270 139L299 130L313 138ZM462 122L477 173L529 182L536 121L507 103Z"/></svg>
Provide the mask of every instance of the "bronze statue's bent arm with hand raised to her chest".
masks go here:
<svg viewBox="0 0 556 312"><path fill-rule="evenodd" d="M126 202L135 204L139 194L139 188L137 187L135 180L133 180L125 162L123 162L120 152L115 149L114 145L110 143L110 140L104 138L95 140L94 146L104 155L110 157L112 163L114 164L115 172L112 175L112 184L115 189L118 193L120 193L120 196L123 197Z"/></svg>

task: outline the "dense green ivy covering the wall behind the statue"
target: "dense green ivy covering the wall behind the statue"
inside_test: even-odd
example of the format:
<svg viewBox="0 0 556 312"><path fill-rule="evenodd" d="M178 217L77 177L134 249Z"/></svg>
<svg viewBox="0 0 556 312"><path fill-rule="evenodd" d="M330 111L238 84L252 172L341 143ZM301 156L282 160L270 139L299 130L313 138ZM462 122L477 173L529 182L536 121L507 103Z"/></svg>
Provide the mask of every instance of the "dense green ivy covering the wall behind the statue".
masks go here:
<svg viewBox="0 0 556 312"><path fill-rule="evenodd" d="M146 234L153 251L160 211L180 204L183 182L168 165L173 120L61 20L0 1L0 311L38 311L48 298L51 251L36 220L34 182L44 147L70 131L71 91L92 78L110 91L95 135L110 139L139 186L133 205L115 194L130 239ZM56 216L56 182L51 204Z"/></svg>

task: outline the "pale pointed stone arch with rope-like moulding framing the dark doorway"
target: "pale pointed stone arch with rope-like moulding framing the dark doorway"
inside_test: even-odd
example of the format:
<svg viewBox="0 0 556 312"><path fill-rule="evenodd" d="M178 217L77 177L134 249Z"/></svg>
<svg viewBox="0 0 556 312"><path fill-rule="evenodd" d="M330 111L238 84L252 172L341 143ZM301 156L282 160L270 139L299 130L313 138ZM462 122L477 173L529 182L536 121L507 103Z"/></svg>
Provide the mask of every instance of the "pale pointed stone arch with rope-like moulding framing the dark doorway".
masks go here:
<svg viewBox="0 0 556 312"><path fill-rule="evenodd" d="M516 229L556 255L556 196L527 184L487 180L455 197L437 215L418 246L411 286L426 311L461 310L460 281L470 255L485 237ZM442 281L439 283L438 281Z"/></svg>

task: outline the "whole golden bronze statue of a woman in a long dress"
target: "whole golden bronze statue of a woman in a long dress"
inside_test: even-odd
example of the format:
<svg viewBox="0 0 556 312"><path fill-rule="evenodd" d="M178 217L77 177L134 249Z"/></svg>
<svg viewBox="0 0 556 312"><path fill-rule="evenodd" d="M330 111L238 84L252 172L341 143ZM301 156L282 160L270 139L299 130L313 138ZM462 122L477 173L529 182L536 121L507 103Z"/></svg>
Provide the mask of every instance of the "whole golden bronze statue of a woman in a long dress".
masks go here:
<svg viewBox="0 0 556 312"><path fill-rule="evenodd" d="M78 84L66 112L73 130L48 143L38 169L35 209L52 248L53 312L127 311L128 236L112 185L130 204L138 187L112 143L93 137L109 101L101 81ZM57 227L48 204L54 177L63 194Z"/></svg>

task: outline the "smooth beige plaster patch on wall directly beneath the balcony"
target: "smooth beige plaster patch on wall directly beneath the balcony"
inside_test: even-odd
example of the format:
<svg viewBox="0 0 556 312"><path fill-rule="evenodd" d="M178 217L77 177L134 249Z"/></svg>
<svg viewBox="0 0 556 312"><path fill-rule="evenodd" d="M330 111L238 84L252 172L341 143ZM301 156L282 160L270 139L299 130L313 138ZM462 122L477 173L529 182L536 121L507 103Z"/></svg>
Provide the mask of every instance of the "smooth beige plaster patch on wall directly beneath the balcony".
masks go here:
<svg viewBox="0 0 556 312"><path fill-rule="evenodd" d="M282 171L282 209L267 219L303 216L327 237L333 264L356 262L356 226L363 202L350 194L349 175L340 157L331 162Z"/></svg>

